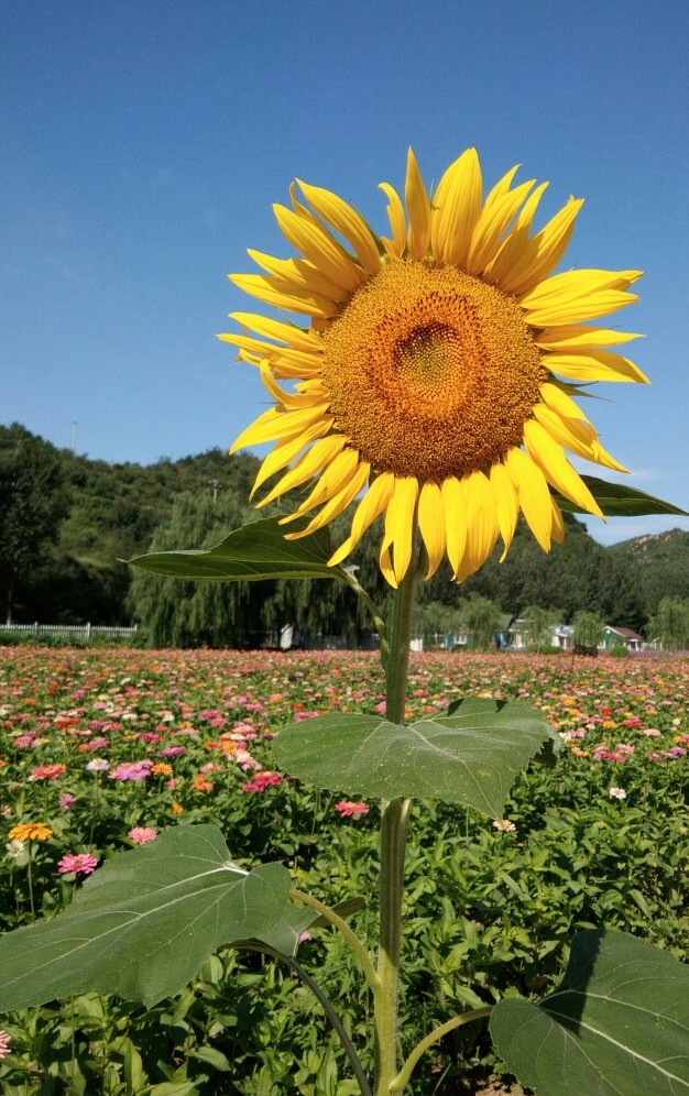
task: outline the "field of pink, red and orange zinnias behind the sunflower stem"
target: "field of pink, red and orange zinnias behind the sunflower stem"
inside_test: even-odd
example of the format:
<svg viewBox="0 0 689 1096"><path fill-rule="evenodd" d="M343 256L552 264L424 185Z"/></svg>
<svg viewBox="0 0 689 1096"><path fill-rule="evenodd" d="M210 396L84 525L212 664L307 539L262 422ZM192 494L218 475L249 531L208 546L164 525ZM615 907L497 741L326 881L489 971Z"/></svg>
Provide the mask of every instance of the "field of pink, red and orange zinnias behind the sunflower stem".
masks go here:
<svg viewBox="0 0 689 1096"><path fill-rule="evenodd" d="M525 699L564 749L532 766L504 821L416 803L407 857L402 1040L510 986L557 984L577 928L689 954L689 660L416 655L408 716L462 695ZM216 822L241 866L280 861L324 901L364 899L375 942L378 804L275 770L288 723L382 711L378 657L352 653L0 649L0 923L52 917L118 851ZM299 947L363 1046L370 1001L339 938ZM339 1044L287 968L227 950L173 1000L86 994L0 1018L0 1089L141 1096L351 1096ZM460 1042L461 1040L461 1042ZM499 1068L481 1031L434 1048L411 1092Z"/></svg>

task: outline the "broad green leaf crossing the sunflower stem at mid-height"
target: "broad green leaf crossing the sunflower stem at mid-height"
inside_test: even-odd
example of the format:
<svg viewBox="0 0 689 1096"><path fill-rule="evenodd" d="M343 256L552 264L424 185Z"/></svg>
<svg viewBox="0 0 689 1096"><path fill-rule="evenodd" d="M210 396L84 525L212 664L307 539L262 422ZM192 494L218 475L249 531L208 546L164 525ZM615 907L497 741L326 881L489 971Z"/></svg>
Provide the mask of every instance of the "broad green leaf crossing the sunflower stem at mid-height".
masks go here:
<svg viewBox="0 0 689 1096"><path fill-rule="evenodd" d="M500 818L517 772L556 738L526 704L468 699L407 726L378 715L315 716L281 731L273 748L281 768L319 788L445 799Z"/></svg>

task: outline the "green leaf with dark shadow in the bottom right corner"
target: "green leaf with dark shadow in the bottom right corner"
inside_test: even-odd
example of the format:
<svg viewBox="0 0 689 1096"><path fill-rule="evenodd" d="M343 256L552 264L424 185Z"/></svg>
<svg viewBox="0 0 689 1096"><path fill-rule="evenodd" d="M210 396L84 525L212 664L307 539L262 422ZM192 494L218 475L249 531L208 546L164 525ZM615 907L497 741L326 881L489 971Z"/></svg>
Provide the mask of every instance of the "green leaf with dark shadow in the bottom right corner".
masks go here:
<svg viewBox="0 0 689 1096"><path fill-rule="evenodd" d="M624 932L576 935L557 993L500 1001L490 1027L538 1096L689 1094L689 966Z"/></svg>

